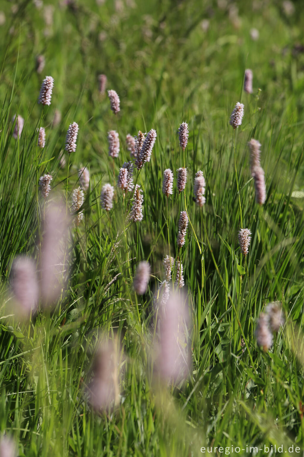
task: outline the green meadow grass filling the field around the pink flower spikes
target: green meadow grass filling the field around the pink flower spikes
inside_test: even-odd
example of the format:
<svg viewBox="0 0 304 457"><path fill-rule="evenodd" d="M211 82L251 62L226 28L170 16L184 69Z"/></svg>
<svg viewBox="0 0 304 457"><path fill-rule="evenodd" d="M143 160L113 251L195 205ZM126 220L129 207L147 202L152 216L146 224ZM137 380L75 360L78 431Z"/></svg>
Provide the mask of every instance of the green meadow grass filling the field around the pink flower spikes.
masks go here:
<svg viewBox="0 0 304 457"><path fill-rule="evenodd" d="M232 455L232 446L294 445L303 452L304 13L300 2L290 16L281 2L219 4L1 4L0 432L17 443L20 456L196 456L211 445L229 446ZM41 74L39 54L46 61ZM253 71L253 94L242 90L246 68ZM117 115L98 91L101 73L119 94ZM37 104L45 75L54 78L50 106ZM229 116L237 101L244 117L234 131ZM55 110L62 115L57 125ZM20 139L12 136L16 113L25 120ZM178 138L183 121L185 154ZM64 153L61 167L72 122L79 126L77 148ZM46 130L43 149L39 127ZM130 159L125 137L151 128L157 132L151 161L134 174L144 217L131 223L131 193L124 197L116 186ZM114 159L109 130L120 138ZM251 138L262 144L263 206L255 202L249 170ZM184 165L188 181L178 195L176 170ZM59 196L74 214L72 193L84 166L90 186L84 217L70 228L68 281L52 308L38 306L21 322L11 315L12 262L22 254L39 266L47 205ZM174 173L168 199L167 168ZM193 201L198 170L206 180L201 208ZM38 183L46 173L53 180L44 201ZM115 187L109 212L100 204L106 183ZM185 209L191 224L179 251ZM246 258L237 241L241 226L252 232ZM169 254L184 267L192 367L183 382L161 384L151 349L152 298ZM147 292L137 296L133 279L142 260L152 274ZM263 351L254 337L257 319L275 301L286 324ZM115 407L96 412L87 389L102 338L119 340L120 396Z"/></svg>

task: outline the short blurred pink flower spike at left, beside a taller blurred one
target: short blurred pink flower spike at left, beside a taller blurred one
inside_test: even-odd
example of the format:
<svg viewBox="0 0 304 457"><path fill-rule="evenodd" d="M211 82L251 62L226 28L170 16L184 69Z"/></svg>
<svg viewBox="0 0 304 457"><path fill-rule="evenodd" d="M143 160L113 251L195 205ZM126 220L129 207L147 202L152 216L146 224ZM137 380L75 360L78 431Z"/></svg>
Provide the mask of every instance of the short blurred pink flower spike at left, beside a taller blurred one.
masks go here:
<svg viewBox="0 0 304 457"><path fill-rule="evenodd" d="M18 256L12 265L11 289L14 296L15 311L26 315L36 309L38 299L38 282L36 265L25 256Z"/></svg>

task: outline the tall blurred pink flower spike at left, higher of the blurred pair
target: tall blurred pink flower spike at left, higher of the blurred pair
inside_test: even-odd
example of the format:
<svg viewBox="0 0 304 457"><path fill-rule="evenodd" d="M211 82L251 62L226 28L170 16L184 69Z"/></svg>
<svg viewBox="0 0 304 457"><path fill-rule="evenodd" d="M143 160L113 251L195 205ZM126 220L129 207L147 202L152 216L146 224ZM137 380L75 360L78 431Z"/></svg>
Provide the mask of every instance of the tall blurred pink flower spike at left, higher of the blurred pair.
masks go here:
<svg viewBox="0 0 304 457"><path fill-rule="evenodd" d="M68 279L69 220L66 207L49 203L41 242L41 297L45 306L60 297Z"/></svg>

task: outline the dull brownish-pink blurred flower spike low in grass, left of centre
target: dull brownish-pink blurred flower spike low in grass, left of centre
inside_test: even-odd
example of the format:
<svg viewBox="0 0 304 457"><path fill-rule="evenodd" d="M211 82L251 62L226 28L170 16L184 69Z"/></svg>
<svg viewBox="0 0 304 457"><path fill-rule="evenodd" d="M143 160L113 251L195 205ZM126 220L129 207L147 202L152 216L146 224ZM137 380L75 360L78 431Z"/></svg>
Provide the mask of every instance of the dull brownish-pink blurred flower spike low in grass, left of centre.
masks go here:
<svg viewBox="0 0 304 457"><path fill-rule="evenodd" d="M97 411L108 411L119 404L120 359L117 340L99 343L93 361L93 378L88 384L89 402Z"/></svg>

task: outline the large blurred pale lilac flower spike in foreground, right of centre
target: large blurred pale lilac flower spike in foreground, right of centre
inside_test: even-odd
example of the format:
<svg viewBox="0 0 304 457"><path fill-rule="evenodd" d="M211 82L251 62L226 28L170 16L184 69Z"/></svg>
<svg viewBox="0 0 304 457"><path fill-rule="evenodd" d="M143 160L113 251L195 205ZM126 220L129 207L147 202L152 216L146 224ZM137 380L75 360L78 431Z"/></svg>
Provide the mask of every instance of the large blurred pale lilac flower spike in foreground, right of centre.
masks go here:
<svg viewBox="0 0 304 457"><path fill-rule="evenodd" d="M191 369L189 311L182 293L170 293L165 305L160 306L159 319L155 368L165 383L180 382Z"/></svg>

